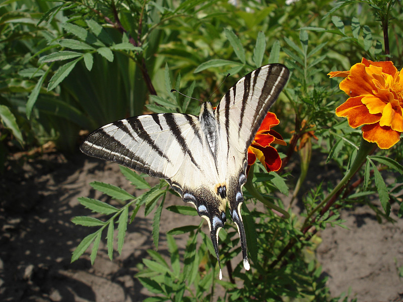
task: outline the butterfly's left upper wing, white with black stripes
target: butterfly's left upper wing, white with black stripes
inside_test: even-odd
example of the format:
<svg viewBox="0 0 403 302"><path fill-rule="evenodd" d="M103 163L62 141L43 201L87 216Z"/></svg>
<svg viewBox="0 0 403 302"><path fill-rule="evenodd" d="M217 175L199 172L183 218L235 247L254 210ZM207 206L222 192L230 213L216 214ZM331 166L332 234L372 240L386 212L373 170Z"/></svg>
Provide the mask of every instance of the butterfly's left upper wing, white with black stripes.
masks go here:
<svg viewBox="0 0 403 302"><path fill-rule="evenodd" d="M213 170L204 163L209 157L202 151L205 143L196 116L163 113L105 125L92 132L80 149L89 156L166 179L182 196L189 175L194 179Z"/></svg>

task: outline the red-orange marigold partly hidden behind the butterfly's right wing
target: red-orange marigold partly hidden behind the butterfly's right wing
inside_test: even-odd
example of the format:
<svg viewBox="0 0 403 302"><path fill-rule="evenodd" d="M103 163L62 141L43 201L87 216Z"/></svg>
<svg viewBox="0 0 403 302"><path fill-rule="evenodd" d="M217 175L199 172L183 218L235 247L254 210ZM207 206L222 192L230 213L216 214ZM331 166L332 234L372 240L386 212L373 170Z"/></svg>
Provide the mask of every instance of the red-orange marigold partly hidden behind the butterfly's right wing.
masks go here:
<svg viewBox="0 0 403 302"><path fill-rule="evenodd" d="M278 132L271 130L271 127L279 123L280 121L276 114L272 112L267 113L259 130L257 130L252 144L248 147L248 168L246 169L246 175L249 172L250 166L255 163L256 158L263 164L267 172L280 170L281 158L276 148L270 145L271 143L286 145L283 137Z"/></svg>

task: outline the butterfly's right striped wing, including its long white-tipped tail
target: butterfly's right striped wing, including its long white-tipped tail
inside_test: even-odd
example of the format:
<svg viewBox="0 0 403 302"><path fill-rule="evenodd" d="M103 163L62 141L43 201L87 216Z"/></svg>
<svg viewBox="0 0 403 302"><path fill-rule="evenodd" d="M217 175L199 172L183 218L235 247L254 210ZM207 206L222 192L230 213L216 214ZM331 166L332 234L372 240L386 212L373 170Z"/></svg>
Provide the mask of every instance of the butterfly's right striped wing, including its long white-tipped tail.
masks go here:
<svg viewBox="0 0 403 302"><path fill-rule="evenodd" d="M246 151L289 77L282 64L268 64L253 70L237 82L216 108L219 131L219 174L226 175L227 197L232 220L242 245L244 266L248 269L246 238L240 206L242 186L246 182Z"/></svg>

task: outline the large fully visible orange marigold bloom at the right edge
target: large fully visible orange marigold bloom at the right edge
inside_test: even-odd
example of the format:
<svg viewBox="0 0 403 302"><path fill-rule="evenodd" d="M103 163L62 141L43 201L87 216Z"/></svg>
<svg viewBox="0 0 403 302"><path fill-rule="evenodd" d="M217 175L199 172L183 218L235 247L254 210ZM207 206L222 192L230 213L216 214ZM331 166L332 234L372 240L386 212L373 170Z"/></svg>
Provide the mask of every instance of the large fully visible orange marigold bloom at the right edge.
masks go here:
<svg viewBox="0 0 403 302"><path fill-rule="evenodd" d="M329 72L330 78L344 77L340 89L350 98L336 108L349 125L361 125L363 138L388 149L403 132L403 73L391 61L373 62L365 58L349 71ZM402 74L400 76L400 74Z"/></svg>

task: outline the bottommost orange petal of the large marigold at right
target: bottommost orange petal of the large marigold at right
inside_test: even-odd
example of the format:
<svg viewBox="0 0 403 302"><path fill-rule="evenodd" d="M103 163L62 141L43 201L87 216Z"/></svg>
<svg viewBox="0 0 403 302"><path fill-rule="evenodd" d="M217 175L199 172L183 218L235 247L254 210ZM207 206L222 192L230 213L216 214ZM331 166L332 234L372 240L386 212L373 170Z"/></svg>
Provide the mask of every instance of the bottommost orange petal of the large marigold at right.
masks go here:
<svg viewBox="0 0 403 302"><path fill-rule="evenodd" d="M388 149L400 140L401 132L394 131L388 126L379 123L362 127L362 136L369 142L376 142L381 149Z"/></svg>

